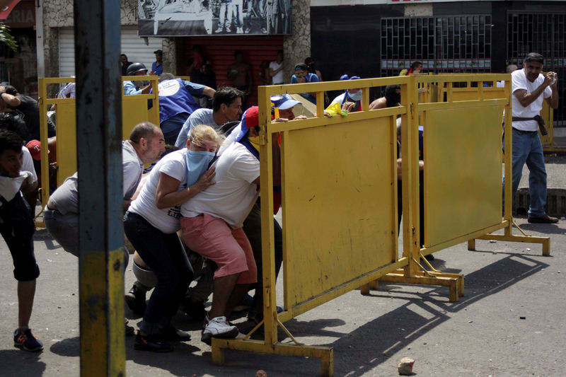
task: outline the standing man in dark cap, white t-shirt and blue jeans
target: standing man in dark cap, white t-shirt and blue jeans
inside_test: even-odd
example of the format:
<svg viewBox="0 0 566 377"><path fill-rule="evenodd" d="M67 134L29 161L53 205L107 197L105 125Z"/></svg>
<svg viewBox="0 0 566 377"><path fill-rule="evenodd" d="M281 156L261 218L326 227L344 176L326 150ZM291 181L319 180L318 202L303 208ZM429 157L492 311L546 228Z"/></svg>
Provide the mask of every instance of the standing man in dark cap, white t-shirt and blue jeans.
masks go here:
<svg viewBox="0 0 566 377"><path fill-rule="evenodd" d="M524 60L524 68L511 74L512 112L513 112L513 191L514 197L523 166L529 167L529 192L531 206L529 223L558 223L558 219L548 216L546 204L546 169L543 147L538 137L538 129L545 132L541 124L540 112L543 99L551 108L558 108L558 76L555 72L541 74L544 58L531 52ZM503 181L504 182L504 181Z"/></svg>

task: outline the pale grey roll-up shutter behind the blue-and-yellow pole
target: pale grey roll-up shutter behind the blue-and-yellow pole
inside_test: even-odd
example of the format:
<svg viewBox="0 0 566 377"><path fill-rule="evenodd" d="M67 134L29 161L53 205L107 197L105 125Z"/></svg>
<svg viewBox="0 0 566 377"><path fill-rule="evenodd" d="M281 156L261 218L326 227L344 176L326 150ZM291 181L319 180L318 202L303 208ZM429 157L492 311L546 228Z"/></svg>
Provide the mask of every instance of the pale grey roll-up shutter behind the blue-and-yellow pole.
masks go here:
<svg viewBox="0 0 566 377"><path fill-rule="evenodd" d="M121 54L127 54L130 62L144 63L151 70L151 63L155 61L155 50L162 49L161 38L148 38L146 45L144 38L138 37L136 26L122 26ZM75 46L73 28L59 29L59 77L75 75Z"/></svg>

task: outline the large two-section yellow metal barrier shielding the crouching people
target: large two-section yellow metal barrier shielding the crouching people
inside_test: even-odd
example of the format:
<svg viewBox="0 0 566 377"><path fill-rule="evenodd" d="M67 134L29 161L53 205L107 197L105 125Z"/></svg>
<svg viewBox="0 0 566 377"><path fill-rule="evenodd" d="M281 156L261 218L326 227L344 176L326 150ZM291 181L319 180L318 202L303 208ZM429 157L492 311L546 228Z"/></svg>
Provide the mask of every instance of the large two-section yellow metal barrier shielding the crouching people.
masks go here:
<svg viewBox="0 0 566 377"><path fill-rule="evenodd" d="M510 201L505 204L503 219L501 216L501 115L506 110L505 132L511 134L509 77L505 74L413 75L355 83L261 86L258 98L264 320L243 339L213 338L214 364L224 362L224 349L311 356L321 359L323 376L332 376L333 349L302 344L284 327L284 321L352 289L369 291L376 286L377 279L448 286L450 300L457 301L463 294L463 276L439 272L430 265L426 269L419 260L423 254L456 243L468 241L468 246L473 246L475 238L542 243L543 254L547 255L548 238L512 235ZM454 100L455 82L500 80L506 81L506 88L485 91L480 86L475 88L473 99ZM362 88L362 111L347 117L323 117L323 92L343 91L352 84ZM368 111L369 88L391 84L400 84L402 105ZM440 92L435 87L444 86L448 101L433 102ZM317 93L318 117L271 122L271 95L306 92ZM420 236L417 119L420 115L425 127L424 192L427 192L424 248L417 241ZM398 116L403 120L401 256L398 256L396 227L395 118ZM282 313L277 313L275 306L271 189L272 143L277 142L279 132L284 232ZM511 146L511 137L506 138L506 150ZM505 173L510 176L511 153L507 153L504 162ZM510 194L511 180L507 180L504 190ZM504 236L489 234L502 228ZM250 340L250 335L261 325L265 329L264 340ZM291 342L277 341L278 327Z"/></svg>

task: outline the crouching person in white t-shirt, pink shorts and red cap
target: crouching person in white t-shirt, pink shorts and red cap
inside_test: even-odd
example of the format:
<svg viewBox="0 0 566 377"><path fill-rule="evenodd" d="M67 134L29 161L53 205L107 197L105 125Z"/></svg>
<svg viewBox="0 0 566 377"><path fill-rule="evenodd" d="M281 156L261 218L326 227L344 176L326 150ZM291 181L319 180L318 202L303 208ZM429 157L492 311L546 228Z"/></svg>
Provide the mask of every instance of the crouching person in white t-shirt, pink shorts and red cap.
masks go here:
<svg viewBox="0 0 566 377"><path fill-rule="evenodd" d="M214 296L210 320L202 341L212 337L236 337L230 325L233 307L257 282L257 267L243 221L258 198L260 161L258 149L258 107L246 110L235 142L216 163L216 184L199 192L181 206L181 231L185 244L216 262Z"/></svg>

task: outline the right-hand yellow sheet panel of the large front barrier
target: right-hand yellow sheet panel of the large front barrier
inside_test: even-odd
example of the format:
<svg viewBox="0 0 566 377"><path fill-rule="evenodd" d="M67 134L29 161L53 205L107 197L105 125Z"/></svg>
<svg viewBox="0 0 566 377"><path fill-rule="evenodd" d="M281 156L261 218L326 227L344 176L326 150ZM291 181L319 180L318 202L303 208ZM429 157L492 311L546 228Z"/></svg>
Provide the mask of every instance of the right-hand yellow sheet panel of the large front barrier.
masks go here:
<svg viewBox="0 0 566 377"><path fill-rule="evenodd" d="M486 102L426 112L426 247L501 222L501 128L494 124L501 122L503 109Z"/></svg>

